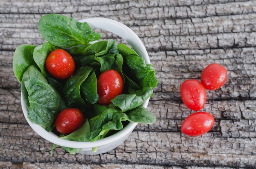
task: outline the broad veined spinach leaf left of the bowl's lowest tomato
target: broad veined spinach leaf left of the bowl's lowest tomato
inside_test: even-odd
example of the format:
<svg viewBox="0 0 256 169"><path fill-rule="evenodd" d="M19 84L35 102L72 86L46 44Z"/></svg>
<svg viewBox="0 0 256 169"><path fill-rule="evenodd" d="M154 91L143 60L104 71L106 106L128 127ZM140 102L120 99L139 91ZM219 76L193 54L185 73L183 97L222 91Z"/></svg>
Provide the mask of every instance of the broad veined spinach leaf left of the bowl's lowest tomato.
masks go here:
<svg viewBox="0 0 256 169"><path fill-rule="evenodd" d="M24 85L29 100L28 118L46 129L65 108L65 102L53 87L36 77L29 78Z"/></svg>

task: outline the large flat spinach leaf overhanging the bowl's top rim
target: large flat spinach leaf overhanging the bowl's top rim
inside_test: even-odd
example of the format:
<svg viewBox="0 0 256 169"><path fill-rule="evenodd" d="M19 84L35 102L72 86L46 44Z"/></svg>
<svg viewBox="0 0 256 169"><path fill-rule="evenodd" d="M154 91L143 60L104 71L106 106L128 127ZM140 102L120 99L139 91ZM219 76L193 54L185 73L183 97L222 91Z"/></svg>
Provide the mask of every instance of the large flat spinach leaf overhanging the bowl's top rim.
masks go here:
<svg viewBox="0 0 256 169"><path fill-rule="evenodd" d="M101 38L88 23L54 13L40 18L38 30L47 42L63 49L80 44L87 45Z"/></svg>

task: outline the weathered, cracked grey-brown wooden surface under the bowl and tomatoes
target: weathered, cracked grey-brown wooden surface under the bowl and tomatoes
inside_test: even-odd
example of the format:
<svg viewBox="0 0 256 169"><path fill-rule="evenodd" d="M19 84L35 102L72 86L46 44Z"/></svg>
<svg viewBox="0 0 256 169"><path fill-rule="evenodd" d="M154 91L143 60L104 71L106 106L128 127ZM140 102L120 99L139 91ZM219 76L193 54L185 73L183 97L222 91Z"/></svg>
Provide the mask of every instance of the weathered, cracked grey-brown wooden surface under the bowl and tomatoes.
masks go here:
<svg viewBox="0 0 256 169"><path fill-rule="evenodd" d="M57 148L50 156L52 143L22 114L20 84L12 71L18 45L44 42L37 24L47 13L111 18L137 33L159 80L148 105L157 116L153 125L138 125L108 153L70 155ZM256 168L255 31L255 0L1 0L0 168ZM185 136L180 126L193 111L182 103L180 84L200 79L213 62L228 71L221 89L207 91L202 109L216 122L202 136Z"/></svg>

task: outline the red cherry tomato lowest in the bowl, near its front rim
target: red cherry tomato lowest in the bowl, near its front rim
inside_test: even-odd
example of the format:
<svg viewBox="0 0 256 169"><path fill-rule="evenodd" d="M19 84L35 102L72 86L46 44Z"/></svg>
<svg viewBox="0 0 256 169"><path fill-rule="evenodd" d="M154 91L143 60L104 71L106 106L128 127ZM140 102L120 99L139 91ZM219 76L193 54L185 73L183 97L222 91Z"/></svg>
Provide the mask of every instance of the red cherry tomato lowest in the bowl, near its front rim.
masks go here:
<svg viewBox="0 0 256 169"><path fill-rule="evenodd" d="M59 133L69 134L83 125L83 113L76 108L64 109L58 114L55 126Z"/></svg>

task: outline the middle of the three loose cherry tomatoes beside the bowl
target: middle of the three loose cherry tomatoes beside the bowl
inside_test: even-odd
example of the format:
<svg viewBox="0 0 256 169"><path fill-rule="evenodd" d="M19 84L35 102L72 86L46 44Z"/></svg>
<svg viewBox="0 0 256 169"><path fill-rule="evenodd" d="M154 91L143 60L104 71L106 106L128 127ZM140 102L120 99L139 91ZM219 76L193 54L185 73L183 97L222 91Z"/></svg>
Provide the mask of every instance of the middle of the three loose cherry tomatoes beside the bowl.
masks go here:
<svg viewBox="0 0 256 169"><path fill-rule="evenodd" d="M202 109L207 99L203 85L195 79L182 82L180 96L186 107L195 111Z"/></svg>

